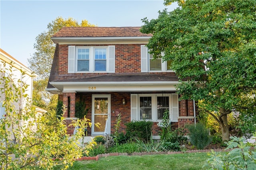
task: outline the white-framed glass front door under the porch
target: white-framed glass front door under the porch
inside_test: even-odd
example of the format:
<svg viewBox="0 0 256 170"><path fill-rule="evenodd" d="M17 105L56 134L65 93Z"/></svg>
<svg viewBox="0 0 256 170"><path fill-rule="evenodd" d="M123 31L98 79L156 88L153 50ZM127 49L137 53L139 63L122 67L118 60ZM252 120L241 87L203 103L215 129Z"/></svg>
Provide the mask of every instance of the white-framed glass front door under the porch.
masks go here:
<svg viewBox="0 0 256 170"><path fill-rule="evenodd" d="M92 135L104 135L105 128L110 134L110 113L110 95L92 95Z"/></svg>

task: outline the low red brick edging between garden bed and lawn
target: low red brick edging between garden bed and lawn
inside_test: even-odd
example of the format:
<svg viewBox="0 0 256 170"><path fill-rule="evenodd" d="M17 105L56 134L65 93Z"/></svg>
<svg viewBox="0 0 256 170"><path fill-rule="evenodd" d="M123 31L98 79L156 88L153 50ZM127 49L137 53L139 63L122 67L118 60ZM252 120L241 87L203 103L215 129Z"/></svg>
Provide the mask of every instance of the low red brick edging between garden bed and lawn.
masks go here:
<svg viewBox="0 0 256 170"><path fill-rule="evenodd" d="M231 149L203 149L203 150L187 150L187 151L173 151L173 152L134 152L132 154L128 153L118 153L118 152L113 152L113 153L107 153L107 154L98 154L97 156L84 156L81 158L76 159L77 161L82 161L82 160L99 160L102 157L107 157L107 156L133 156L133 155L157 155L157 154L184 154L184 153L196 153L196 152L211 152L211 150L214 150L214 152L227 152L230 151Z"/></svg>

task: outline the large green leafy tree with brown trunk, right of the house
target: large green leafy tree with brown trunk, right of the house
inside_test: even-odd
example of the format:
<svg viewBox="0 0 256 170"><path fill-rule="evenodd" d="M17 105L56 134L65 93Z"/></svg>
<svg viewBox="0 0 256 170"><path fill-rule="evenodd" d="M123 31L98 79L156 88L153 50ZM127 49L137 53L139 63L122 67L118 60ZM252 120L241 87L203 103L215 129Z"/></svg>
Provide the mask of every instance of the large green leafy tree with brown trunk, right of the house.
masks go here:
<svg viewBox="0 0 256 170"><path fill-rule="evenodd" d="M181 99L200 101L229 140L228 115L255 117L256 1L165 0L177 2L172 12L143 19L141 32L153 34L147 47L154 57L171 61L180 79Z"/></svg>

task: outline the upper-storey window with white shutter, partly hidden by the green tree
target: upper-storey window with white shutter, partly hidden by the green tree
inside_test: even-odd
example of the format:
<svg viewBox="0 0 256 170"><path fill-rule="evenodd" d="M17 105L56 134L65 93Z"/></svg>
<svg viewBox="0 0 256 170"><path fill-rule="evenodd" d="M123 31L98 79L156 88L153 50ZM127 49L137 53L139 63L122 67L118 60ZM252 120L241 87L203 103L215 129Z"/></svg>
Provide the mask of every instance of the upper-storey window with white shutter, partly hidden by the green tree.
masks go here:
<svg viewBox="0 0 256 170"><path fill-rule="evenodd" d="M148 53L148 48L141 45L141 72L172 71L170 63L170 61L162 61L161 58L154 59L153 55Z"/></svg>

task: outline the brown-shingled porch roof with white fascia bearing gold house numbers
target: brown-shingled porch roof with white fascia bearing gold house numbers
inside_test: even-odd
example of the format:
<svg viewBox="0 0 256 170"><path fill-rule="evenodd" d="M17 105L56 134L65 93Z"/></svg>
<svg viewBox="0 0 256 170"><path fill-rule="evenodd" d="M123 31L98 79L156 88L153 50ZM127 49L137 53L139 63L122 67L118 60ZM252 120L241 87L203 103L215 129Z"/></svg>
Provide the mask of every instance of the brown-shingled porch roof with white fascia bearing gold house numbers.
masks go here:
<svg viewBox="0 0 256 170"><path fill-rule="evenodd" d="M92 76L92 75L88 75ZM46 89L54 93L59 91L86 92L88 86L95 87L94 91L176 91L178 84L175 74L160 75L151 73L120 73L98 75L94 77L74 78L74 75L62 76L61 79L50 81L54 88Z"/></svg>

